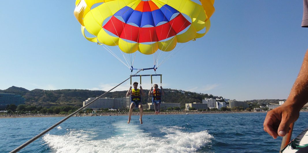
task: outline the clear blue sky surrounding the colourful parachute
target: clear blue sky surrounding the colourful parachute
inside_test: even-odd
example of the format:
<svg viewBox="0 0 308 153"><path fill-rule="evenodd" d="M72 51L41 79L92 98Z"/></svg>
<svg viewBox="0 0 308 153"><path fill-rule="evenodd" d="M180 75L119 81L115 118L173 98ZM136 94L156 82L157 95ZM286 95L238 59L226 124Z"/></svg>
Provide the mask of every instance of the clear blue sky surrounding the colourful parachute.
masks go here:
<svg viewBox="0 0 308 153"><path fill-rule="evenodd" d="M75 1L1 4L0 89L107 91L131 74L102 46L83 38ZM217 0L208 34L183 44L157 69L162 86L237 100L286 99L308 48L302 5L302 0ZM143 67L152 66L152 56L137 56ZM150 85L144 77L143 88ZM115 90L128 88L129 81Z"/></svg>

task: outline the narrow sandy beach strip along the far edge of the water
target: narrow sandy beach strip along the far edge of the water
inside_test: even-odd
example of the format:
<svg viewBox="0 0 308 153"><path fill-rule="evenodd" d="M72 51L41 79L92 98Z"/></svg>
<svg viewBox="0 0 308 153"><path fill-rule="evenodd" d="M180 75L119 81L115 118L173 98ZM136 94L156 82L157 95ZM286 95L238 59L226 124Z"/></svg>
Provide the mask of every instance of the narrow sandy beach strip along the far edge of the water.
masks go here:
<svg viewBox="0 0 308 153"><path fill-rule="evenodd" d="M175 115L175 114L234 114L234 113L266 113L260 112L248 112L248 111L214 111L214 112L191 112L191 111L174 111L174 112L160 112L158 115ZM92 117L92 116L126 116L126 113L97 113L97 114L78 114L72 117ZM132 115L139 115L139 112L133 112ZM156 115L155 112L144 112L143 115ZM37 118L37 117L67 117L68 115L59 114L16 114L16 115L0 115L1 118Z"/></svg>

